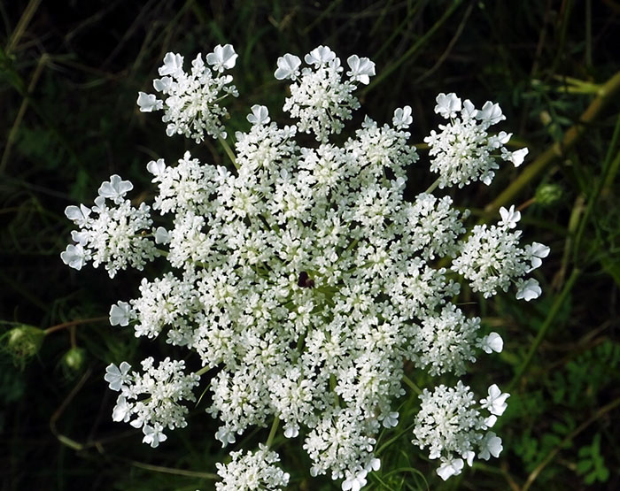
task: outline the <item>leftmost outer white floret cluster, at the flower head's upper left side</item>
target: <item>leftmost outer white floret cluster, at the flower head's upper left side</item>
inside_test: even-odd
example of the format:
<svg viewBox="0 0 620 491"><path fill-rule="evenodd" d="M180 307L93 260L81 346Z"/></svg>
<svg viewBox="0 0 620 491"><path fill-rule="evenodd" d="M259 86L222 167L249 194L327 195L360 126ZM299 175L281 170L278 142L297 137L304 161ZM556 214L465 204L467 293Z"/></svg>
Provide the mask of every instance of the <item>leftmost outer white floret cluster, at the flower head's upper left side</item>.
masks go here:
<svg viewBox="0 0 620 491"><path fill-rule="evenodd" d="M66 217L80 227L71 234L76 243L60 255L66 265L80 270L89 261L95 267L105 264L113 278L128 265L142 270L147 260L158 255L155 244L144 236L151 228L151 208L145 203L135 208L123 199L133 188L131 182L114 174L99 188L95 206L66 207Z"/></svg>

